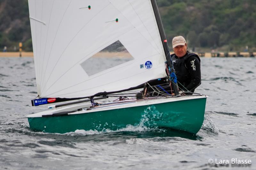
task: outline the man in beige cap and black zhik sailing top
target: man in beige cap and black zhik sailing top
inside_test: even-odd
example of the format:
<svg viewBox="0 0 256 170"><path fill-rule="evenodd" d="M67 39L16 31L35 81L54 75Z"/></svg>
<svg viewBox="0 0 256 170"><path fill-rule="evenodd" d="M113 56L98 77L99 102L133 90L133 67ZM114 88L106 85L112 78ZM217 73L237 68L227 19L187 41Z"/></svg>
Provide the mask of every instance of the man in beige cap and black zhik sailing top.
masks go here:
<svg viewBox="0 0 256 170"><path fill-rule="evenodd" d="M174 54L171 57L179 89L194 92L195 88L201 84L200 58L188 52L186 40L182 36L172 39L172 48Z"/></svg>

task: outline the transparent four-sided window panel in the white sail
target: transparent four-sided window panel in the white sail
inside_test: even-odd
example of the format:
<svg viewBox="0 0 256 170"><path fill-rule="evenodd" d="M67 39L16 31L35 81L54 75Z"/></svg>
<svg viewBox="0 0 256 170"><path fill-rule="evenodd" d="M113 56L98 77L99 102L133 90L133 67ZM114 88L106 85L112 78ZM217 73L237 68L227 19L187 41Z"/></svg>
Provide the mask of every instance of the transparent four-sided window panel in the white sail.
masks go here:
<svg viewBox="0 0 256 170"><path fill-rule="evenodd" d="M85 60L81 66L91 76L131 60L134 58L118 40Z"/></svg>

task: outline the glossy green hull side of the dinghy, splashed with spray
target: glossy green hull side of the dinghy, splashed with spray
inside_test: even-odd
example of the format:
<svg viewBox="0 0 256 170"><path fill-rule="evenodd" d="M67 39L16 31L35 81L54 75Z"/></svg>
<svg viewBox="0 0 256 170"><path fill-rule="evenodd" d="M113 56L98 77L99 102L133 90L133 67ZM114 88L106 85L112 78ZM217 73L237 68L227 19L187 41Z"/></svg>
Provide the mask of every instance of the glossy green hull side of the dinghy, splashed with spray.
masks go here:
<svg viewBox="0 0 256 170"><path fill-rule="evenodd" d="M166 127L196 134L204 121L205 103L206 98L199 98L75 115L28 117L28 122L31 129L48 133L77 129L117 130L142 124L149 128Z"/></svg>

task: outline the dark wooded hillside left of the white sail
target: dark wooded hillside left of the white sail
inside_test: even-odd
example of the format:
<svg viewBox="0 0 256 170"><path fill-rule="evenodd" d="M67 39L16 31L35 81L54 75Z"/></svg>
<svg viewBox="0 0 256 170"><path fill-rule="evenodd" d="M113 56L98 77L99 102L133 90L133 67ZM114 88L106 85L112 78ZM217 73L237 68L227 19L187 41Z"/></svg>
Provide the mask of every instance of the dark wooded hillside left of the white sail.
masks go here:
<svg viewBox="0 0 256 170"><path fill-rule="evenodd" d="M23 42L23 49L31 51L32 43L24 43L28 39L31 39L28 1L1 0L0 50L6 46L7 51L18 51L19 42Z"/></svg>

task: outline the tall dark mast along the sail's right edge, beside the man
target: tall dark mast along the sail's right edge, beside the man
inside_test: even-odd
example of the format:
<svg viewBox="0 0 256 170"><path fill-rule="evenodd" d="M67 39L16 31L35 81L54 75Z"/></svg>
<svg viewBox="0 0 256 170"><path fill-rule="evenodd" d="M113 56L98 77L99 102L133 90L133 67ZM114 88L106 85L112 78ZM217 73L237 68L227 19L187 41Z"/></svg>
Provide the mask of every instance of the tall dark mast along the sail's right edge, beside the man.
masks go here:
<svg viewBox="0 0 256 170"><path fill-rule="evenodd" d="M172 65L172 58L171 58L171 55L170 55L169 47L168 47L166 36L165 36L165 33L164 33L164 27L163 27L162 20L161 20L159 11L158 11L156 0L151 0L151 4L152 4L152 7L153 7L155 17L156 17L156 23L157 23L158 30L159 30L159 33L160 33L161 41L162 41L162 44L163 44L163 47L164 47L164 54L166 56L166 61L167 61L167 69L169 70L169 75L168 76L169 76L169 79L170 79L170 75L172 73L175 74L174 69L173 69L173 65ZM174 90L174 94L178 95L179 94L179 89L178 89L177 82L175 83L175 82L172 81L172 87L173 87L173 90Z"/></svg>

